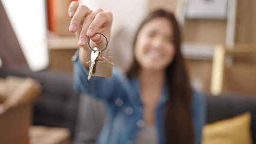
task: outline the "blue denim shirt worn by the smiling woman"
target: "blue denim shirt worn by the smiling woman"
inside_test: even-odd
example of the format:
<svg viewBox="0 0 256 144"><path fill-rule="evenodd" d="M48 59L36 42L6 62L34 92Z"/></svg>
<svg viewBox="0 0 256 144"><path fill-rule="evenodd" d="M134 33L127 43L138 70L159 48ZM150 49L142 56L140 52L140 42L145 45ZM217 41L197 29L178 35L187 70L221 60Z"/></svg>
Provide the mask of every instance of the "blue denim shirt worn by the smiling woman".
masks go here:
<svg viewBox="0 0 256 144"><path fill-rule="evenodd" d="M79 50L73 56L74 88L78 92L103 99L106 102L106 118L96 143L133 143L144 127L143 104L140 98L138 79L127 79L127 76L117 68L113 69L113 77L91 77L87 80L88 70L79 61ZM158 132L158 143L165 142L163 126L163 109L168 98L168 88L165 85L155 114ZM204 99L194 92L192 102L195 144L201 143L201 131L204 125Z"/></svg>

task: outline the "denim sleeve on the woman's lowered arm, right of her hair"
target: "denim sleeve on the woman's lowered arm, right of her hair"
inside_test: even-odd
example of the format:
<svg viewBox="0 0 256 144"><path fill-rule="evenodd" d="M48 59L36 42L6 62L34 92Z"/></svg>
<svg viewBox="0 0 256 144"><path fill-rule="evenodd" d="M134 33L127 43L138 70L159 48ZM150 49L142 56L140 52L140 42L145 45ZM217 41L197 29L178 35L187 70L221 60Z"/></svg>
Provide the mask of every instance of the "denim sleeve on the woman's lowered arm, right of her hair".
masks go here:
<svg viewBox="0 0 256 144"><path fill-rule="evenodd" d="M192 113L193 113L193 120L194 120L195 144L201 144L201 141L202 141L202 130L206 121L205 105L206 104L205 104L203 95L197 91L194 91Z"/></svg>

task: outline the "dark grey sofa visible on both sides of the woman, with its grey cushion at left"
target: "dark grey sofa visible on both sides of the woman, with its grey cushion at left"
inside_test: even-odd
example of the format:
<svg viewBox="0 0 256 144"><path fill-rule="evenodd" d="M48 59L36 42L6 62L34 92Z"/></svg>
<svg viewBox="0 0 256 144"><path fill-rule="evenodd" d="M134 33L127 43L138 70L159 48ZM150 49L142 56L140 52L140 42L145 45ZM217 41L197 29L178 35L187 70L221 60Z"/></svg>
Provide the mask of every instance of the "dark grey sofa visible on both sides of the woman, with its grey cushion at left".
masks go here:
<svg viewBox="0 0 256 144"><path fill-rule="evenodd" d="M36 125L65 127L72 131L73 143L94 143L103 124L105 107L102 101L79 95L73 91L71 73L44 70L32 72L26 68L0 68L0 77L7 75L32 77L43 86L34 103ZM243 94L205 94L206 122L231 118L243 112L252 113L252 137L256 143L256 97Z"/></svg>

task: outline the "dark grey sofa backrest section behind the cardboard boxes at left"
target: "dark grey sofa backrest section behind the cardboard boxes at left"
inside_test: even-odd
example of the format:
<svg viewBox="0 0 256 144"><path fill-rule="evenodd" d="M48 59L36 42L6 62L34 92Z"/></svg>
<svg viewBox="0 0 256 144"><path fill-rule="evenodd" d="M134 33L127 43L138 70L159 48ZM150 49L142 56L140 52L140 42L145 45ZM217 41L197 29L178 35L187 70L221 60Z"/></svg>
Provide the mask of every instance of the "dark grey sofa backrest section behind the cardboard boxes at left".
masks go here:
<svg viewBox="0 0 256 144"><path fill-rule="evenodd" d="M79 94L73 90L71 73L52 70L32 72L19 67L0 68L0 77L8 75L32 77L42 86L43 91L34 103L34 125L69 128L73 138Z"/></svg>

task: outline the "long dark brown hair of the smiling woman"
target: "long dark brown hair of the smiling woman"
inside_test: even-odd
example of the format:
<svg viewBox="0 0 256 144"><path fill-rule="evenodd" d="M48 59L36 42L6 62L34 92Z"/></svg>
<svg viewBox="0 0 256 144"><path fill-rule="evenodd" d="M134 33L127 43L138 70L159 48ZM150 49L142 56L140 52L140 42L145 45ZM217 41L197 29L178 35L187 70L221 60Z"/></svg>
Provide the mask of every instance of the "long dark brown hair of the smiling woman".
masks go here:
<svg viewBox="0 0 256 144"><path fill-rule="evenodd" d="M175 46L175 56L171 64L166 68L166 79L169 90L164 112L166 143L190 144L194 142L194 127L191 112L192 88L186 68L184 67L184 59L181 55L181 35L174 14L165 10L157 10L149 14L136 32L133 47L135 47L136 39L141 28L156 17L168 19L172 23L172 29L174 30L173 43ZM138 61L133 57L133 64L127 76L129 78L138 76L139 67Z"/></svg>

